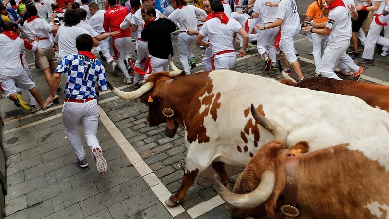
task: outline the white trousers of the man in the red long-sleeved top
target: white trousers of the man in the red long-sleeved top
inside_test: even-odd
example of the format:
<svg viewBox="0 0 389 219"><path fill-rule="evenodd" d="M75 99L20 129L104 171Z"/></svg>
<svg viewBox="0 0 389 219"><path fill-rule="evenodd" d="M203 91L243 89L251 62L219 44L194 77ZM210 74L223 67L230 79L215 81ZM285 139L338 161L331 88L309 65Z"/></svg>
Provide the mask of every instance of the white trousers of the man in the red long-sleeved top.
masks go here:
<svg viewBox="0 0 389 219"><path fill-rule="evenodd" d="M132 39L131 37L122 37L114 40L115 47L118 50L118 65L120 70L124 73L125 78L131 78L128 74L127 66L124 63L124 60L131 58L132 52Z"/></svg>

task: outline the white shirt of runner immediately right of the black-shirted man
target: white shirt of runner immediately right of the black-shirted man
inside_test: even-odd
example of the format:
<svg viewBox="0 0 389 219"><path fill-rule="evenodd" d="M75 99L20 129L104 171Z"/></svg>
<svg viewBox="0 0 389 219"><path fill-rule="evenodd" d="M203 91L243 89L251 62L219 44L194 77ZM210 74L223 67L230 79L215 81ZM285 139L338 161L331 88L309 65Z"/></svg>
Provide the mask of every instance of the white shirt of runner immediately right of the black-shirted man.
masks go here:
<svg viewBox="0 0 389 219"><path fill-rule="evenodd" d="M186 5L186 6L183 6L181 9L176 8L176 10L174 10L169 15L168 18L170 20L172 20L173 22L179 24L180 31L187 31L185 26L182 24L182 20L185 19L186 21L188 21L189 28L191 30L198 30L198 27L197 27L198 21L197 21L196 16L201 17L201 18L205 18L205 17L207 17L207 13L205 13L204 10L197 8L193 5Z"/></svg>

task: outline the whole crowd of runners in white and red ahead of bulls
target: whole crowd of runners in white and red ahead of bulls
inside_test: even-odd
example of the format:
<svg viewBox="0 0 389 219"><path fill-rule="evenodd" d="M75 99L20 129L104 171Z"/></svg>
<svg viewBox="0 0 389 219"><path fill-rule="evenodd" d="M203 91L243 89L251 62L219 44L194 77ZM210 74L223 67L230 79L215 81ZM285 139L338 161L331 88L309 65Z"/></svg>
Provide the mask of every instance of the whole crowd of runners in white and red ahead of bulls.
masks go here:
<svg viewBox="0 0 389 219"><path fill-rule="evenodd" d="M361 26L369 11L374 17L365 37ZM363 72L358 65L374 64L376 44L383 46L382 56L389 54L389 6L384 0L315 0L302 24L295 0L5 0L0 12L1 88L16 106L35 113L58 101L56 90L66 76L62 118L77 154L75 164L88 166L76 130L82 119L100 173L107 168L96 138L96 98L98 90L107 89L100 60L112 65L113 74L119 67L124 84L134 83L137 89L151 73L169 70L168 57L174 54L171 33L177 26L178 54L185 74L196 67L194 44L205 49L205 71L233 68L233 44L238 38L240 57L246 55L248 42L255 41L265 71L277 69L276 53L282 53L284 73L290 75L293 69L298 80L303 80L294 47L294 38L301 30L307 32L313 47L316 76L342 80L338 75L354 75L357 81ZM357 65L353 59L360 58L358 39L364 51ZM350 42L352 56L346 53ZM25 49L33 51L36 67L42 70L50 88L46 102L35 87ZM58 66L53 61L56 53ZM334 71L336 68L340 70ZM29 91L30 103L23 101L23 90Z"/></svg>

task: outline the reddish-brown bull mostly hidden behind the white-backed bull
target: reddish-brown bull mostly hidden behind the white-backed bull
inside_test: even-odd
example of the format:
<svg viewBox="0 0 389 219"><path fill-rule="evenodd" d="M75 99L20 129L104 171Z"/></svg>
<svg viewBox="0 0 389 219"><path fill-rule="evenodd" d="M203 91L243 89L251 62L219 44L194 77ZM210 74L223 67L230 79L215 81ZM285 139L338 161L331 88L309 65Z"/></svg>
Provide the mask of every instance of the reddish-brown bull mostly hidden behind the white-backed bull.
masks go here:
<svg viewBox="0 0 389 219"><path fill-rule="evenodd" d="M316 91L356 96L372 107L389 112L389 86L361 81L340 81L327 77L305 78L298 83L293 79L284 78L281 83Z"/></svg>

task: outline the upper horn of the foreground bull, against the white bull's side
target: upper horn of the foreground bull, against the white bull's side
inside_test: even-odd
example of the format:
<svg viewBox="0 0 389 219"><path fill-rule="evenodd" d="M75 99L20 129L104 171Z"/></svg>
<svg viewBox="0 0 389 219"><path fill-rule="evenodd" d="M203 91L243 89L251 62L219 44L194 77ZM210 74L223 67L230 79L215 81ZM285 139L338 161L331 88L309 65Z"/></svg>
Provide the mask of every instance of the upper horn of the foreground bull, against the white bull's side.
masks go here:
<svg viewBox="0 0 389 219"><path fill-rule="evenodd" d="M251 104L251 114L259 125L274 134L274 140L278 140L285 145L287 132L283 127L263 116L253 104Z"/></svg>

